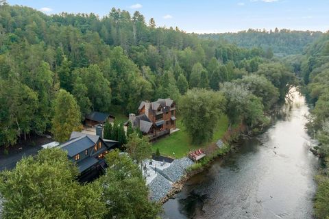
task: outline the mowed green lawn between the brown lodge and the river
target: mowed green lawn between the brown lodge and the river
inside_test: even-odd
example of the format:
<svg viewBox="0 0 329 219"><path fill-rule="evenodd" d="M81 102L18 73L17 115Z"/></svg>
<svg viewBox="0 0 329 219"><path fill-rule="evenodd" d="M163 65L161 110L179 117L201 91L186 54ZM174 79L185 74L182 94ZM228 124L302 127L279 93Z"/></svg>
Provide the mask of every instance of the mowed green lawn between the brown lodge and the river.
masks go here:
<svg viewBox="0 0 329 219"><path fill-rule="evenodd" d="M217 140L223 137L224 133L228 129L228 117L225 115L221 116L212 140L201 145L191 143L191 139L187 135L181 119L176 121L176 127L178 127L180 131L154 142L152 145L152 151L154 151L154 153L156 152L156 149L159 149L161 155L181 158L186 156L189 151L200 149L208 146L208 144L217 142Z"/></svg>

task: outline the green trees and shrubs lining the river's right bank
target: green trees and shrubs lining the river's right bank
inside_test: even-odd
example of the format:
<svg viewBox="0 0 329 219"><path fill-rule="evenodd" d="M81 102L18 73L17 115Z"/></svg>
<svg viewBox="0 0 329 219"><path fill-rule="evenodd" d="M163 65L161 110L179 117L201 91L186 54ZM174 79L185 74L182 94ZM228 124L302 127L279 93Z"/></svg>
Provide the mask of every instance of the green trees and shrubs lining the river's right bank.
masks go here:
<svg viewBox="0 0 329 219"><path fill-rule="evenodd" d="M307 48L302 60L302 75L307 86L308 99L314 105L310 111L308 131L319 141L315 147L326 164L317 177L315 196L317 218L329 218L329 34Z"/></svg>

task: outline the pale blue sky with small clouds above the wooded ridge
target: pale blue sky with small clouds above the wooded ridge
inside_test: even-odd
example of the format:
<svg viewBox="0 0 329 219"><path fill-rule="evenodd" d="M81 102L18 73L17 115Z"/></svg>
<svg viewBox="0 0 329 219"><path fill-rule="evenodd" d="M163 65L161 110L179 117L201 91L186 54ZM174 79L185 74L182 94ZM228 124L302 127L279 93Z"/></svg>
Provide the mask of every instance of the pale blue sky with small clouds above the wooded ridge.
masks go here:
<svg viewBox="0 0 329 219"><path fill-rule="evenodd" d="M60 12L106 16L111 8L134 13L157 26L186 32L223 33L252 29L329 30L329 0L7 0L45 14Z"/></svg>

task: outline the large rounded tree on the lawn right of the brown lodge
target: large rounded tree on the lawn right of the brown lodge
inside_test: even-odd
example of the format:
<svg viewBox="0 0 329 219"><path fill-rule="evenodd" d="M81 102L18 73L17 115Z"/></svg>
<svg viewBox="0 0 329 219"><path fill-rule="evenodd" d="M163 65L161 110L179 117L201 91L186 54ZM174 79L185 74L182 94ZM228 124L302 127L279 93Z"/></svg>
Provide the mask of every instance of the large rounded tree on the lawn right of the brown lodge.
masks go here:
<svg viewBox="0 0 329 219"><path fill-rule="evenodd" d="M225 105L225 97L219 92L210 90L188 90L182 96L180 101L182 123L194 143L199 144L212 140Z"/></svg>

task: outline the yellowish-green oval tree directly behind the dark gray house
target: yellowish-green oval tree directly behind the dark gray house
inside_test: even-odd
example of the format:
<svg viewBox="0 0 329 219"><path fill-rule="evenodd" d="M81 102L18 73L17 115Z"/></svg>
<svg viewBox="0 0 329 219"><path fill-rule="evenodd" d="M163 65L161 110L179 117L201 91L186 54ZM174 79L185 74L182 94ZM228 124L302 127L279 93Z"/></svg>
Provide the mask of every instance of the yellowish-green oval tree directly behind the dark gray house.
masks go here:
<svg viewBox="0 0 329 219"><path fill-rule="evenodd" d="M51 132L59 142L67 140L72 131L80 131L82 129L77 101L69 92L65 90L58 92L58 96L53 103L53 111Z"/></svg>

